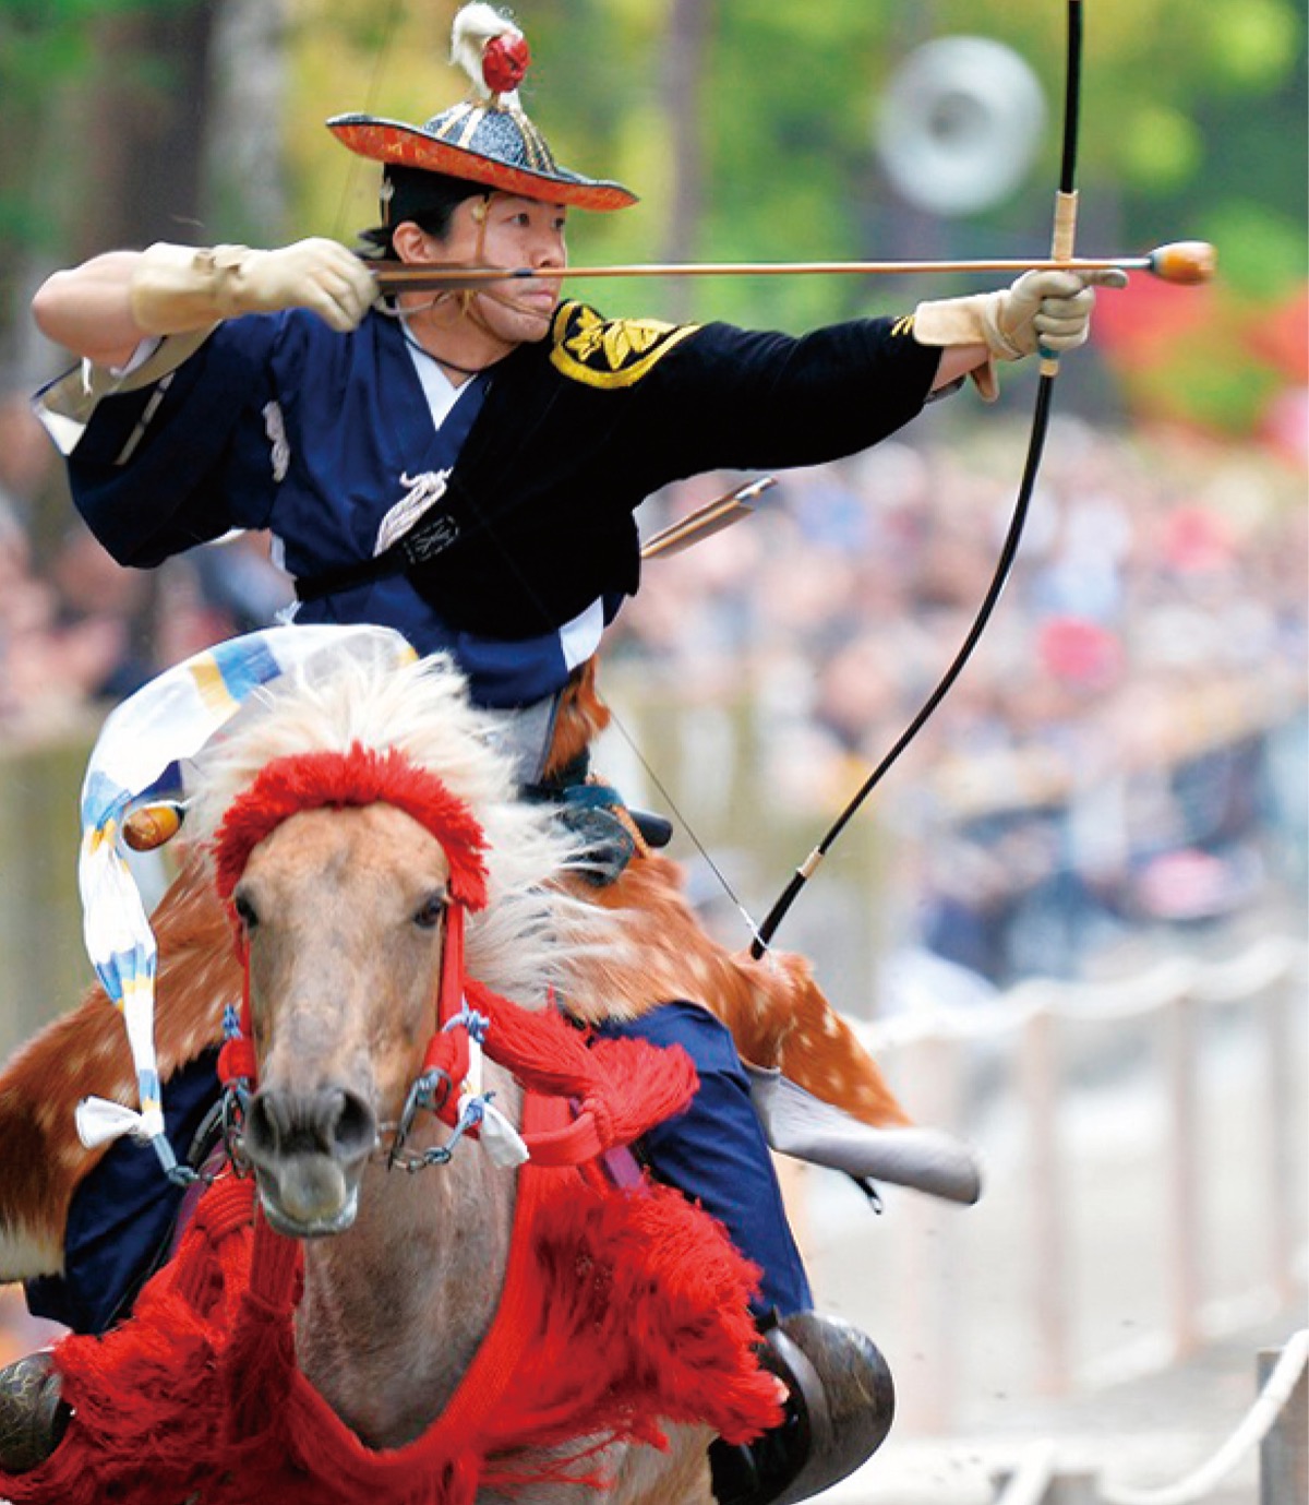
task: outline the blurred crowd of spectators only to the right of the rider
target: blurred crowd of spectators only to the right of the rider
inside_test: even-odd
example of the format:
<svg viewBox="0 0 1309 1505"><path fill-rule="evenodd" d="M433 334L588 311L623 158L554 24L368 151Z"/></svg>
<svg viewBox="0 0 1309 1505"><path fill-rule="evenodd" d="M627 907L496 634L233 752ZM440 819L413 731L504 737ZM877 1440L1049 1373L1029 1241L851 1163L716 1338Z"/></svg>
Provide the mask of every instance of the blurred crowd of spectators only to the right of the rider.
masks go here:
<svg viewBox="0 0 1309 1505"><path fill-rule="evenodd" d="M659 674L676 649L694 686L700 646L746 623L731 692L766 707L778 802L834 813L963 640L1013 459L966 470L958 453L891 444L785 476L763 518L650 566L623 653ZM916 885L898 912L999 984L1074 971L1128 926L1238 912L1270 862L1304 868L1297 477L1082 423L1052 455L1001 610L888 816Z"/></svg>

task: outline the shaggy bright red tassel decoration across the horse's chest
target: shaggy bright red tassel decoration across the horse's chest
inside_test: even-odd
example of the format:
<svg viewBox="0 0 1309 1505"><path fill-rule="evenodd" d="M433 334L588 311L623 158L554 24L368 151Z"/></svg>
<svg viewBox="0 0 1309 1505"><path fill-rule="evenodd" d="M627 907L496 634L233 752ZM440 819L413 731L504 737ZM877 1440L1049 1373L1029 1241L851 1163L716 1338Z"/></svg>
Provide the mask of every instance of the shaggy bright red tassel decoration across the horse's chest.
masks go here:
<svg viewBox="0 0 1309 1505"><path fill-rule="evenodd" d="M530 1105L528 1130L566 1114ZM0 1496L102 1505L203 1487L206 1505L471 1505L480 1488L599 1482L605 1443L665 1446L656 1418L728 1440L776 1425L746 1311L757 1272L713 1219L668 1187L617 1192L594 1172L531 1165L522 1177L477 1382L414 1443L366 1448L299 1373L299 1246L251 1227L251 1183L226 1180L132 1318L59 1347L68 1436L32 1473L0 1475ZM539 1472L524 1458L582 1437Z"/></svg>

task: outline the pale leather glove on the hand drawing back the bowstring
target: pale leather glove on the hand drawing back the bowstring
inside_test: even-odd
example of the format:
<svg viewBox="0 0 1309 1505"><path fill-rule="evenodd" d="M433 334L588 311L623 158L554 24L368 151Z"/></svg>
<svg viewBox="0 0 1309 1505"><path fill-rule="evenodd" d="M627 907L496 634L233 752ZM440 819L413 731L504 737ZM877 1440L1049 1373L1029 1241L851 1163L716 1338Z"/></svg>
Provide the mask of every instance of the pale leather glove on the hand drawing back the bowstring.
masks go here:
<svg viewBox="0 0 1309 1505"><path fill-rule="evenodd" d="M159 241L141 253L128 289L132 318L147 334L179 334L281 309L308 309L345 334L363 321L376 295L364 263L320 236L275 251L196 250Z"/></svg>

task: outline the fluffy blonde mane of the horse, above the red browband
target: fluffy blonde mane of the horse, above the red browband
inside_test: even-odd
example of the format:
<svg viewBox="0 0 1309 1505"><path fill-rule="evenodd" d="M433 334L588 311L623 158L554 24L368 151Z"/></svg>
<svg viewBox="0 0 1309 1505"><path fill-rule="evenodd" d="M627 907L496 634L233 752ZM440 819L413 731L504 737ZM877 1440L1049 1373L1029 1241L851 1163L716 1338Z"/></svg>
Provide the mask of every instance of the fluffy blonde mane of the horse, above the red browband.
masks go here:
<svg viewBox="0 0 1309 1505"><path fill-rule="evenodd" d="M188 840L208 849L232 801L274 759L394 748L441 778L486 832L490 901L468 917L469 974L528 1005L551 989L567 998L579 968L615 944L618 918L563 886L585 865L576 838L551 805L518 798L498 730L447 655L399 668L381 658L311 659L256 691L196 759Z"/></svg>

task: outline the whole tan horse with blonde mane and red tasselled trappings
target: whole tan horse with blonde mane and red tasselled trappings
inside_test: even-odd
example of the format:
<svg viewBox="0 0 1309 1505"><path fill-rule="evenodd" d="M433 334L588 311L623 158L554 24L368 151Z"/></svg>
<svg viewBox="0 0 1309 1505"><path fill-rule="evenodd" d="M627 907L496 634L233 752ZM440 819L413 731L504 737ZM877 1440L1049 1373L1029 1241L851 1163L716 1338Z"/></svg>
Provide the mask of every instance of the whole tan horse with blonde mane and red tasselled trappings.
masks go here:
<svg viewBox="0 0 1309 1505"><path fill-rule="evenodd" d="M591 1049L554 1008L623 915L579 892L576 838L516 795L441 658L290 676L199 756L187 831L232 927L223 1076L244 1174L205 1193L132 1321L65 1341L87 1448L3 1481L15 1500L98 1497L81 1470L120 1427L113 1497L153 1475L149 1497L197 1505L468 1505L510 1485L692 1505L712 1499L715 1431L779 1419L725 1236L667 1189L615 1193L590 1160L685 1102L694 1070L635 1041ZM661 1258L703 1272L691 1306L650 1297L653 1263L624 1266L651 1230ZM623 1347L650 1333L665 1351Z"/></svg>

